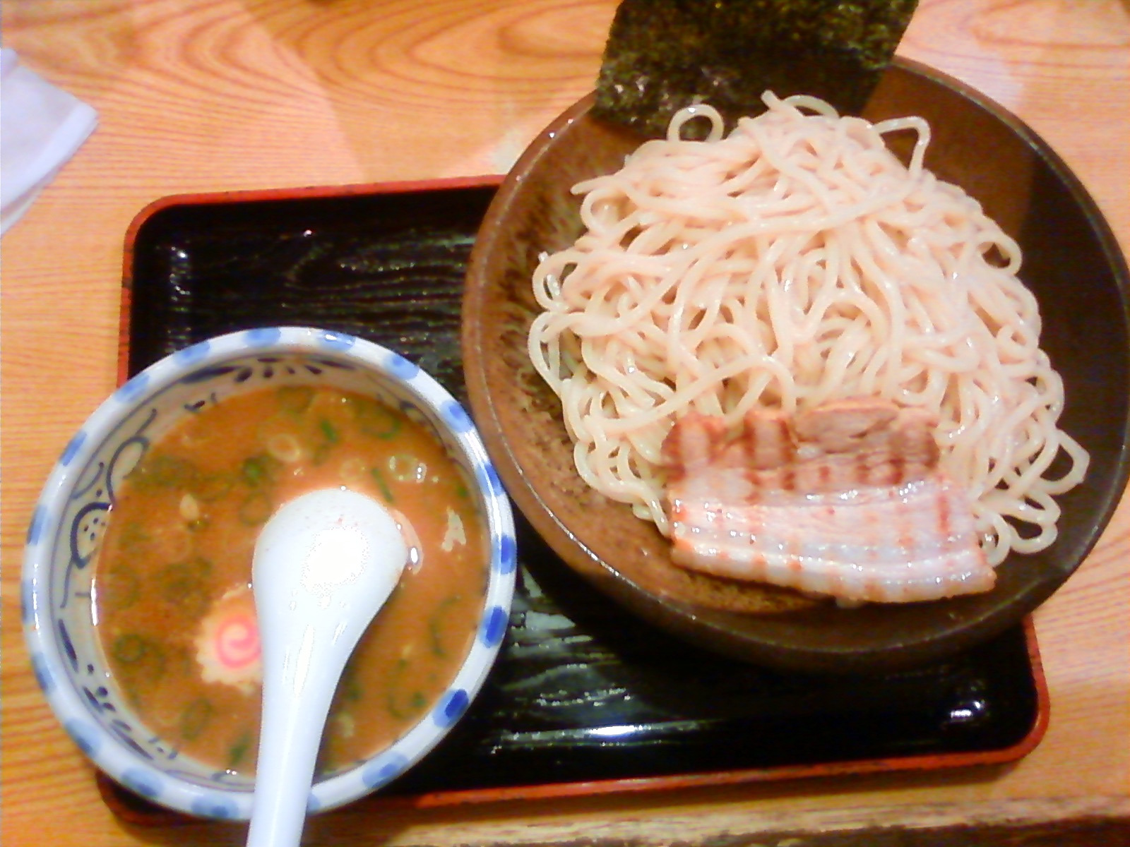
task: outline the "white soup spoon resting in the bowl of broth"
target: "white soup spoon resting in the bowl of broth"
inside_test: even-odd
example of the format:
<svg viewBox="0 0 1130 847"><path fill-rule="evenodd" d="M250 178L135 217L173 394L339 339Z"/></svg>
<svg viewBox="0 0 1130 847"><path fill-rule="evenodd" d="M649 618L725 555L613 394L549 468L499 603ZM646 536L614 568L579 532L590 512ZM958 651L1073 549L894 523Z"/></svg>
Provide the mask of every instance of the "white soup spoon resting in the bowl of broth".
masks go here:
<svg viewBox="0 0 1130 847"><path fill-rule="evenodd" d="M322 728L357 639L408 558L376 500L322 489L290 500L255 543L263 714L247 847L297 845Z"/></svg>

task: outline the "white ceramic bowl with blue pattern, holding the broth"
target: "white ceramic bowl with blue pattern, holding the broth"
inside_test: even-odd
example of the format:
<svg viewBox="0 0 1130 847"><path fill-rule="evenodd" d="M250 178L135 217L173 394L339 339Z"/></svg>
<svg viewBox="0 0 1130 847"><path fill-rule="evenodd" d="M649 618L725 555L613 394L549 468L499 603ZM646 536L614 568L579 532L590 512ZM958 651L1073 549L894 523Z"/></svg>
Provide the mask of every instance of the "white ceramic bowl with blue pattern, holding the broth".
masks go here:
<svg viewBox="0 0 1130 847"><path fill-rule="evenodd" d="M481 688L506 631L516 567L510 501L471 419L416 365L351 335L284 326L210 339L146 368L90 416L47 479L27 535L24 627L40 686L79 748L133 792L194 815L250 818L252 780L177 754L133 715L94 631L92 565L116 487L181 416L238 392L298 383L363 392L427 426L476 481L490 534L477 638L450 688L392 746L318 781L310 811L364 796L427 754Z"/></svg>

